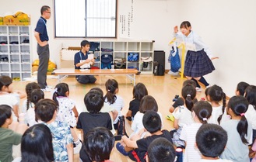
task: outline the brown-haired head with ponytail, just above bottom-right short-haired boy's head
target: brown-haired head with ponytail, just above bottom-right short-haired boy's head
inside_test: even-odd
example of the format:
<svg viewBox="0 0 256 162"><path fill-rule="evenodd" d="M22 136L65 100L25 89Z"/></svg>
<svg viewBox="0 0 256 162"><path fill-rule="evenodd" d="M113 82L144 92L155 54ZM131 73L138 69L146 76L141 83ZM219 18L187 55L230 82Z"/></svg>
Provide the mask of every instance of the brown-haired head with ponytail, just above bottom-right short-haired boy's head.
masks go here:
<svg viewBox="0 0 256 162"><path fill-rule="evenodd" d="M192 112L198 117L203 124L207 123L207 119L212 115L212 105L209 102L196 102L192 108Z"/></svg>

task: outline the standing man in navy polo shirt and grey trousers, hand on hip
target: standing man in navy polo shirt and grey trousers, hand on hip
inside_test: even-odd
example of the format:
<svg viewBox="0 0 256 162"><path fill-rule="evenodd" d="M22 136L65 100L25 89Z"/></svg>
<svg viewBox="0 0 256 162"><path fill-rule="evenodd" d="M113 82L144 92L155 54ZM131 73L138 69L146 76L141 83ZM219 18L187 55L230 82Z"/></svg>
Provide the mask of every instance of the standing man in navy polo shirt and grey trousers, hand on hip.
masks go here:
<svg viewBox="0 0 256 162"><path fill-rule="evenodd" d="M49 6L42 6L40 19L37 22L34 36L37 40L37 54L39 57L39 67L37 71L37 82L40 85L42 91L51 91L51 88L47 87L47 68L50 57L50 50L48 44L48 34L46 28L47 19L51 17L51 9Z"/></svg>

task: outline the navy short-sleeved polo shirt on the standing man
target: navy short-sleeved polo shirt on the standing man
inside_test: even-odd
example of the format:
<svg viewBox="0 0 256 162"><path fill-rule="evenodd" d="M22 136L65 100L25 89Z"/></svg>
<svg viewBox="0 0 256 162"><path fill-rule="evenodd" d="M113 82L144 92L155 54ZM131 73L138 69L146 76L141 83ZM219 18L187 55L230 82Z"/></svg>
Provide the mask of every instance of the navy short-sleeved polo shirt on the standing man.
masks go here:
<svg viewBox="0 0 256 162"><path fill-rule="evenodd" d="M40 19L38 19L37 27L35 29L36 32L40 33L39 36L42 42L49 40L49 37L47 34L46 22L47 22L46 19L44 19L41 16Z"/></svg>

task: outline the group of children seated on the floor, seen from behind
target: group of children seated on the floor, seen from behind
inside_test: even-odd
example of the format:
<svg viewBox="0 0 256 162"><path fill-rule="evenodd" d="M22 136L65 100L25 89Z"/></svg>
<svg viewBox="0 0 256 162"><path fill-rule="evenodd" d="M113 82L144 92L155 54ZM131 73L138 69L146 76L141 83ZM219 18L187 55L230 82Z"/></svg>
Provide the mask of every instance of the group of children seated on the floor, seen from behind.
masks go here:
<svg viewBox="0 0 256 162"><path fill-rule="evenodd" d="M132 122L133 133L129 136L121 115L124 100L117 95L118 83L114 79L106 81L106 95L100 88L86 93L86 111L80 114L68 97L68 84L57 84L52 99L44 98L37 83L26 84L27 98L21 109L25 119L18 113L19 99L24 95L12 91L12 79L1 76L0 88L2 162L17 157L12 156L17 150L12 146L19 144L21 153L15 162L35 157L35 161L42 162L73 161L74 153L79 153L80 161L111 162L116 130L121 134L117 150L138 162L249 162L256 150L256 86L245 82L237 84L237 95L226 102L223 89L217 85L206 88L207 101L198 101L195 83L184 81L181 98L174 102L168 116L174 122L172 130L162 129L155 98L144 84L138 83L125 116ZM81 131L82 141L75 127ZM179 148L184 153L178 152Z"/></svg>

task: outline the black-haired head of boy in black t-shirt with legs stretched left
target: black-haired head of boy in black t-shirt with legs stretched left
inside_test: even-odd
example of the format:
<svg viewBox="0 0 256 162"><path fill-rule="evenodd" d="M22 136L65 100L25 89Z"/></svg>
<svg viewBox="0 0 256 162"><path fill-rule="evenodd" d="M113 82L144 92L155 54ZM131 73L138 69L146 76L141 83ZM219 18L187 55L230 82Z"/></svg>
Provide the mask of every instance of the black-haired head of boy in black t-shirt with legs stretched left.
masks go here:
<svg viewBox="0 0 256 162"><path fill-rule="evenodd" d="M142 118L142 123L144 128L149 131L149 133L156 133L161 130L162 122L160 115L153 110L145 112Z"/></svg>

